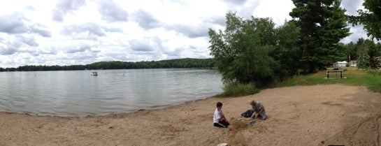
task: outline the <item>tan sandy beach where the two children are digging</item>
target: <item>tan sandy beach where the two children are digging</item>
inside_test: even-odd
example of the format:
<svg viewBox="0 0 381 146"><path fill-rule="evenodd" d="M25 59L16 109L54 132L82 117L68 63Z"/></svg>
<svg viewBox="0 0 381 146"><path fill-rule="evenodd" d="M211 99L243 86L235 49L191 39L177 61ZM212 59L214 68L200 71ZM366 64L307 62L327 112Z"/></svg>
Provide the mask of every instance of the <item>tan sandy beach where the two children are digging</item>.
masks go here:
<svg viewBox="0 0 381 146"><path fill-rule="evenodd" d="M240 113L263 103L266 121ZM215 103L235 131L213 126ZM158 110L94 117L0 112L0 145L381 145L381 94L365 87L315 85L206 98Z"/></svg>

